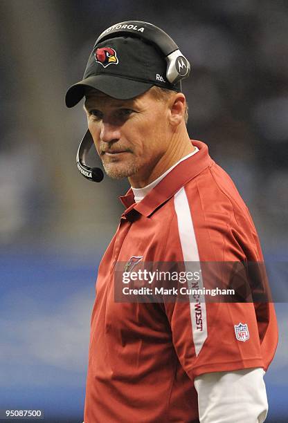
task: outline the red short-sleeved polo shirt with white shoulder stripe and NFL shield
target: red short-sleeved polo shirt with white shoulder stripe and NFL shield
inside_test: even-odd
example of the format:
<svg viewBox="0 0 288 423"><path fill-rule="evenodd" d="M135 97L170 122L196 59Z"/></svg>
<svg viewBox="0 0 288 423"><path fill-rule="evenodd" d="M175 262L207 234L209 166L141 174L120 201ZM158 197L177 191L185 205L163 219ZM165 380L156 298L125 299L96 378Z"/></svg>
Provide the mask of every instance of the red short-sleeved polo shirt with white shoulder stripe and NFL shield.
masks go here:
<svg viewBox="0 0 288 423"><path fill-rule="evenodd" d="M85 423L199 422L193 379L262 367L276 350L271 303L116 303L114 267L143 261L262 261L249 210L206 144L127 209L98 269ZM200 319L200 320L199 320ZM200 324L200 323L201 324ZM249 339L235 326L249 328Z"/></svg>

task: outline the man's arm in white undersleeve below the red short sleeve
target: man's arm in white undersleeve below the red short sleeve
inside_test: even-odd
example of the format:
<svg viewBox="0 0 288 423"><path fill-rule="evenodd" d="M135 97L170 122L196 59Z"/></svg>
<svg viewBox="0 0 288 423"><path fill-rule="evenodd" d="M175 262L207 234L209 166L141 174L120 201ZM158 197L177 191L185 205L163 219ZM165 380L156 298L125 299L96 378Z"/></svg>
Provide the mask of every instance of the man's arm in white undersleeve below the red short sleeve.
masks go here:
<svg viewBox="0 0 288 423"><path fill-rule="evenodd" d="M195 378L201 423L262 423L268 411L262 368L205 373Z"/></svg>

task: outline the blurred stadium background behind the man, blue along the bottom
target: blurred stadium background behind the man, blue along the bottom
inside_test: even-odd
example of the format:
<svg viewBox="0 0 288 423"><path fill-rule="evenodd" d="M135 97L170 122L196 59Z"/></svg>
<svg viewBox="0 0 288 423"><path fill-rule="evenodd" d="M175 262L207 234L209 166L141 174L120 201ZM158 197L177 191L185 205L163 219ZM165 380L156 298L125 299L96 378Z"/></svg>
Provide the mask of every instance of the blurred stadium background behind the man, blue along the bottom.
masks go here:
<svg viewBox="0 0 288 423"><path fill-rule="evenodd" d="M86 121L81 106L66 109L66 88L111 24L137 19L168 32L192 63L190 136L231 174L271 285L287 298L288 3L1 0L0 16L0 409L82 422L96 269L127 182L96 185L78 173ZM276 310L270 423L288 421L287 303Z"/></svg>

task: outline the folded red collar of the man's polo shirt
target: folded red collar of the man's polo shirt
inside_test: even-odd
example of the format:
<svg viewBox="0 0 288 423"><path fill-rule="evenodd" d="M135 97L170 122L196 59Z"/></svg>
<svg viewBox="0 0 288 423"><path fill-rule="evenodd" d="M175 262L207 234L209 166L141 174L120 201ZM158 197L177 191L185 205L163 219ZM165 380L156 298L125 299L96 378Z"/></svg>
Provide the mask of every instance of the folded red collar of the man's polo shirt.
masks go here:
<svg viewBox="0 0 288 423"><path fill-rule="evenodd" d="M192 144L198 147L199 151L194 156L190 156L177 164L168 175L165 176L157 185L150 191L140 203L134 203L134 194L132 189L120 196L123 205L127 207L123 216L126 216L132 210L136 210L143 216L150 216L154 210L160 207L165 201L174 196L183 185L195 178L206 167L213 164L213 160L208 154L208 147L204 142L191 140Z"/></svg>

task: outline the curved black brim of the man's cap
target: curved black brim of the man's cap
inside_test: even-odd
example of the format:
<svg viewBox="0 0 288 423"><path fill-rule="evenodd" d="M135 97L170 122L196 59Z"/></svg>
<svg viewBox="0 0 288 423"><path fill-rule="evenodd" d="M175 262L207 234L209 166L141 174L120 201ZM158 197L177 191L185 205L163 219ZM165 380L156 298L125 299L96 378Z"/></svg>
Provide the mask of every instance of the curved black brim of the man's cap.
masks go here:
<svg viewBox="0 0 288 423"><path fill-rule="evenodd" d="M84 97L87 86L118 100L127 100L145 93L153 84L113 75L92 75L69 88L65 97L66 106L73 107L78 104Z"/></svg>

